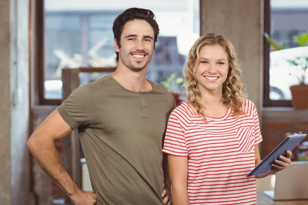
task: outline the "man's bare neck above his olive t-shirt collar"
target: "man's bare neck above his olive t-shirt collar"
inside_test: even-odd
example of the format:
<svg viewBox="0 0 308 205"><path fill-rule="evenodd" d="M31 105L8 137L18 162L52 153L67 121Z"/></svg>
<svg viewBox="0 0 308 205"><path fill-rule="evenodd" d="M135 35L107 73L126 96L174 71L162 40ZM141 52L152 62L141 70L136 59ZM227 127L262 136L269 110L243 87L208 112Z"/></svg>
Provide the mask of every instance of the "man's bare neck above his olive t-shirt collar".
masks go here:
<svg viewBox="0 0 308 205"><path fill-rule="evenodd" d="M150 91L150 83L145 79L147 68L141 71L132 71L124 65L118 65L112 77L124 88L131 91Z"/></svg>

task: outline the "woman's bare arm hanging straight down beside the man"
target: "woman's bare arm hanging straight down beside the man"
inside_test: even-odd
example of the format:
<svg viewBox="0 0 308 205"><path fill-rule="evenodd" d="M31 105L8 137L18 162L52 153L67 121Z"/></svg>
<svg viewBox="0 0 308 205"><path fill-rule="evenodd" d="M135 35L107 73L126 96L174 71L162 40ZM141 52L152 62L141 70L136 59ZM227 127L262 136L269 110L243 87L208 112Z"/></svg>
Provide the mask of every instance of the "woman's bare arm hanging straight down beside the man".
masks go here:
<svg viewBox="0 0 308 205"><path fill-rule="evenodd" d="M173 205L189 205L187 194L188 157L168 155Z"/></svg>

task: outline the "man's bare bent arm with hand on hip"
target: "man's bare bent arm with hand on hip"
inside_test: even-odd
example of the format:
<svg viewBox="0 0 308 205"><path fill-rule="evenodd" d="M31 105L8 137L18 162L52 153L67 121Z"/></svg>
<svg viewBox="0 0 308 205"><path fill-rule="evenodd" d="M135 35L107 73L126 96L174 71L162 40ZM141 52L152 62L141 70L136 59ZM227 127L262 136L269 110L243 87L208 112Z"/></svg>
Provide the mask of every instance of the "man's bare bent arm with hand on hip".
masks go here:
<svg viewBox="0 0 308 205"><path fill-rule="evenodd" d="M62 188L75 204L94 204L96 195L84 192L64 170L54 142L72 131L57 110L33 132L27 145L38 165Z"/></svg>

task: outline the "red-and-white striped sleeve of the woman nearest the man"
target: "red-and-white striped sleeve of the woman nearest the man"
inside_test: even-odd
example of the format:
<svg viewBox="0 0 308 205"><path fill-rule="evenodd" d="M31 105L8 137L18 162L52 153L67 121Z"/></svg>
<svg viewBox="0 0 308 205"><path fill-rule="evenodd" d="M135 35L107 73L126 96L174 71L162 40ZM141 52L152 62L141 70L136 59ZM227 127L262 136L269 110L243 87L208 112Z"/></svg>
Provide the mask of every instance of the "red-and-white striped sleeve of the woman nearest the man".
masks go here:
<svg viewBox="0 0 308 205"><path fill-rule="evenodd" d="M163 152L176 156L188 156L184 129L174 112L168 119Z"/></svg>

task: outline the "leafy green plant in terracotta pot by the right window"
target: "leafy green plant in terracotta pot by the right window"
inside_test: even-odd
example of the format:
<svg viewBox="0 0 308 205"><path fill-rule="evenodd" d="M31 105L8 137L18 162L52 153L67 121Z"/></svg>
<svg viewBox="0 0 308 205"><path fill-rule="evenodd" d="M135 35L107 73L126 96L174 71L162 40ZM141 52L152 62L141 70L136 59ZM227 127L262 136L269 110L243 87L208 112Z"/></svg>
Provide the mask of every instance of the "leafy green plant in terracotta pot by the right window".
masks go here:
<svg viewBox="0 0 308 205"><path fill-rule="evenodd" d="M265 39L268 44L272 46L273 50L283 50L286 48L285 43L278 43L267 33L264 33ZM300 68L301 73L297 74L298 84L291 86L292 105L294 109L308 109L308 85L306 84L306 71L308 68L308 33L300 33L293 36L293 40L299 47L302 47L302 54L300 56L293 57L292 59L285 59L290 66ZM301 49L301 48L300 48ZM306 49L306 50L305 50ZM304 52L304 50L306 52Z"/></svg>

